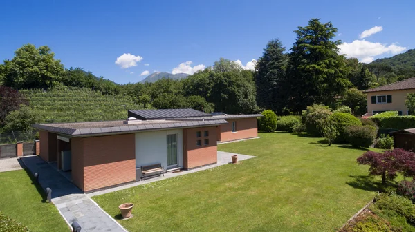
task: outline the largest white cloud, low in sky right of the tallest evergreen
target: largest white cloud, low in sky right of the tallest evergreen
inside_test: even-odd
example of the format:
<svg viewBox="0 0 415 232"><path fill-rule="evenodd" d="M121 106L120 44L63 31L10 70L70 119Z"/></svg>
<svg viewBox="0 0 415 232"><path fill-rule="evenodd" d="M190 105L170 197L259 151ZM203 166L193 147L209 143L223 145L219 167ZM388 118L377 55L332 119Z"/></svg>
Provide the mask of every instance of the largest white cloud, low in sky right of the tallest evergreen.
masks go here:
<svg viewBox="0 0 415 232"><path fill-rule="evenodd" d="M346 54L347 57L358 58L360 62L370 63L374 61L374 57L389 53L391 55L396 55L400 52L403 52L407 48L398 46L396 43L392 43L387 46L382 43L372 43L369 41L355 40L351 43L342 43L339 46L340 54Z"/></svg>

